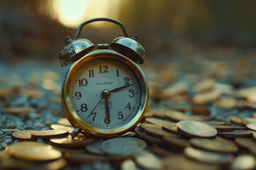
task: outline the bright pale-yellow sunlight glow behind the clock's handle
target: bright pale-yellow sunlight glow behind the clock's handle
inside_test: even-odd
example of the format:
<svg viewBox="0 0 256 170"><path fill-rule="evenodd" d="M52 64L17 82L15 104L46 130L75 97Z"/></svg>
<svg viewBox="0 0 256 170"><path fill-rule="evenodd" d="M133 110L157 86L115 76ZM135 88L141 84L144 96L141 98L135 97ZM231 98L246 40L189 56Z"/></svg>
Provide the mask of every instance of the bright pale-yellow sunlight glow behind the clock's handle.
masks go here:
<svg viewBox="0 0 256 170"><path fill-rule="evenodd" d="M54 0L50 15L65 26L77 28L90 18L116 18L120 3L119 0ZM101 24L104 22L92 23L94 26Z"/></svg>

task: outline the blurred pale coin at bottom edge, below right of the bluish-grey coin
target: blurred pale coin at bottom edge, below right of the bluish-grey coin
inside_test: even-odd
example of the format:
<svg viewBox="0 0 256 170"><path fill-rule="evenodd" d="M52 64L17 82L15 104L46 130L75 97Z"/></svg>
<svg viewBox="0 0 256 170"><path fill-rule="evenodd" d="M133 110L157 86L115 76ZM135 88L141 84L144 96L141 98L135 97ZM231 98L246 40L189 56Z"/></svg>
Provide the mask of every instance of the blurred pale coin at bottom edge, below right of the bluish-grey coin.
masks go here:
<svg viewBox="0 0 256 170"><path fill-rule="evenodd" d="M162 159L151 152L144 150L134 156L135 162L146 170L159 170Z"/></svg>

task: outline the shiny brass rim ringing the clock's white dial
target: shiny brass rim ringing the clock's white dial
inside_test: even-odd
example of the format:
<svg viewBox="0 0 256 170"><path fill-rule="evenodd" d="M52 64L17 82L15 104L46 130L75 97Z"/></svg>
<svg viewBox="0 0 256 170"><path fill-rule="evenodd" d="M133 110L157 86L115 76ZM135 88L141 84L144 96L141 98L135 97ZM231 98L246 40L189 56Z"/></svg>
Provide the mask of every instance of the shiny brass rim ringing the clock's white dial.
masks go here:
<svg viewBox="0 0 256 170"><path fill-rule="evenodd" d="M85 123L85 121L83 121L76 114L75 109L72 107L72 102L71 102L72 97L70 97L70 93L69 93L71 88L69 84L71 84L72 77L73 75L76 74L76 71L78 70L78 68L80 68L80 66L82 66L85 62L88 62L93 58L103 57L103 56L112 57L128 64L128 66L130 66L132 70L135 72L136 76L139 77L139 83L144 84L144 85L141 85L142 100L141 100L141 104L139 106L137 115L135 115L135 117L132 118L132 120L130 120L126 125L121 126L119 128L114 128L114 129L95 128L93 126L90 126L88 123ZM141 68L139 68L139 66L135 62L128 59L124 55L121 55L112 50L92 51L87 55L83 56L80 60L78 60L77 62L72 64L72 66L70 66L63 80L61 102L62 102L63 111L67 117L67 120L70 122L70 124L73 127L75 128L79 127L81 130L83 130L83 133L93 137L99 137L99 138L117 137L132 130L132 128L134 128L139 123L139 121L141 121L141 119L143 118L146 112L146 109L148 107L148 100L149 100L148 83Z"/></svg>

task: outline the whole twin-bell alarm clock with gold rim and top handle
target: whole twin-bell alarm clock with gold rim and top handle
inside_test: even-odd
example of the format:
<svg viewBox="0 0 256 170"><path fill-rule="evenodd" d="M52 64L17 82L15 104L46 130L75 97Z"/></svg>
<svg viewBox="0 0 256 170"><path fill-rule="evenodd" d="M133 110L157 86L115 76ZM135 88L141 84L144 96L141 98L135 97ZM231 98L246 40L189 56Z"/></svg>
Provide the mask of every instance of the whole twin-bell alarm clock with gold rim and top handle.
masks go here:
<svg viewBox="0 0 256 170"><path fill-rule="evenodd" d="M110 44L95 46L78 39L86 24L97 21L119 25L125 37ZM143 118L148 106L148 83L138 66L144 63L145 50L131 37L124 24L111 18L93 18L82 22L74 39L64 38L59 54L61 66L72 64L63 80L61 102L67 120L80 132L96 138L118 137L132 130Z"/></svg>

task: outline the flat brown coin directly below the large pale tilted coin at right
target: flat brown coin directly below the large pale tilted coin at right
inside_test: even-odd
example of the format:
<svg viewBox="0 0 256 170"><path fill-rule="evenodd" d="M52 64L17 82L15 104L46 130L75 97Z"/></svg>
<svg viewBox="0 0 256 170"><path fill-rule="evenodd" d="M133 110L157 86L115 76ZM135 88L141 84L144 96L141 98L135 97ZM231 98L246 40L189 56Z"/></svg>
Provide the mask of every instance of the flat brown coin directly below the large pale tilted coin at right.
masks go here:
<svg viewBox="0 0 256 170"><path fill-rule="evenodd" d="M196 148L220 153L236 153L238 147L234 142L216 137L215 139L191 138L189 144Z"/></svg>

